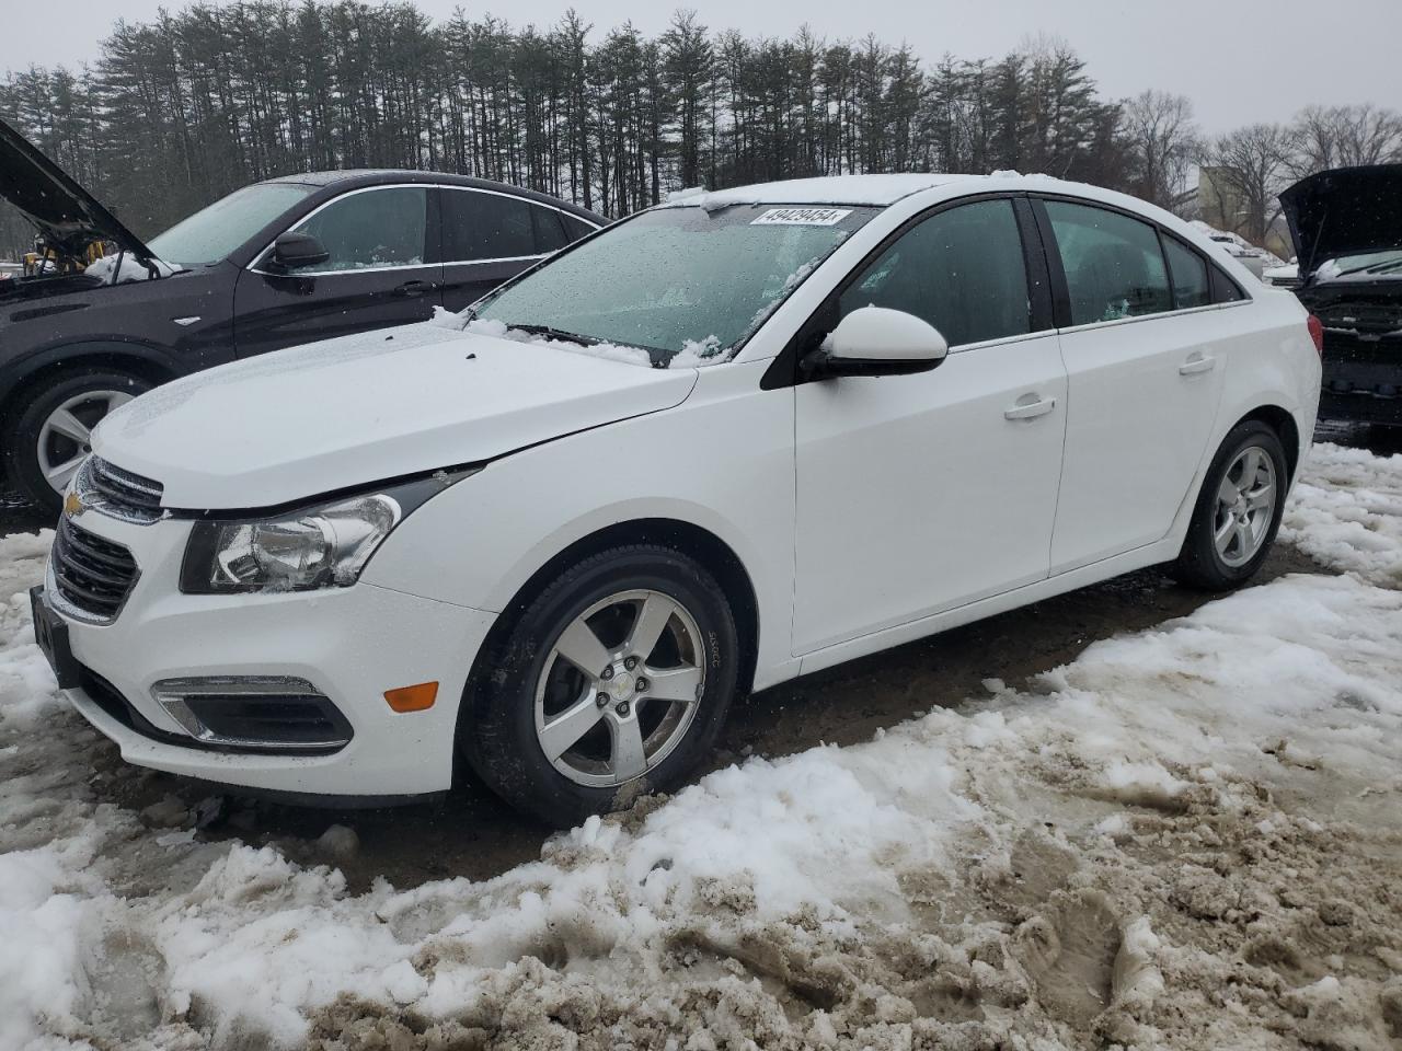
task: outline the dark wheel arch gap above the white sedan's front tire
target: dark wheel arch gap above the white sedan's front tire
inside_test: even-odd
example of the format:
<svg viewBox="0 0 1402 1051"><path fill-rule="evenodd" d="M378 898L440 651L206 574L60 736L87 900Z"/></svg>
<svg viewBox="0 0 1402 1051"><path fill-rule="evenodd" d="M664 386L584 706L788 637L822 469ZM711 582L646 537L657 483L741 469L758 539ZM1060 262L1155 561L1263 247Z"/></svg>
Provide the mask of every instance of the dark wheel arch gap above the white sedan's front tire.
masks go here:
<svg viewBox="0 0 1402 1051"><path fill-rule="evenodd" d="M568 566L596 555L608 548L628 544L656 544L672 548L688 558L697 559L708 572L715 576L721 590L730 601L735 614L736 633L740 639L740 670L737 687L740 692L747 692L754 681L754 667L758 659L760 640L760 612L758 596L749 570L735 554L735 549L709 530L680 518L631 518L613 523L600 530L580 537L541 565L522 584L510 601L502 607L501 615L488 632L486 639L478 649L472 661L472 670L467 677L467 692L471 694L486 673L484 661L494 650L494 645L502 635L510 631L516 618L530 604L530 601L551 580L562 573ZM465 710L467 705L464 705ZM458 716L461 719L461 715Z"/></svg>

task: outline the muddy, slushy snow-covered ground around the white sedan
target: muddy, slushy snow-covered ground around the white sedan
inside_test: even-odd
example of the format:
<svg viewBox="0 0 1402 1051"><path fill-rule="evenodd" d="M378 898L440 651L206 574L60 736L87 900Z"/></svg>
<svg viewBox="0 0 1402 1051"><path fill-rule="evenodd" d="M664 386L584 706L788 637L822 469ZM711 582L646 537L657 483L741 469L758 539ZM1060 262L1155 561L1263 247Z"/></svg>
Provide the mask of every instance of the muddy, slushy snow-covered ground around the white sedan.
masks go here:
<svg viewBox="0 0 1402 1051"><path fill-rule="evenodd" d="M10 537L0 1048L1396 1048L1402 457L1316 447L1283 535L1338 575L359 895L104 802Z"/></svg>

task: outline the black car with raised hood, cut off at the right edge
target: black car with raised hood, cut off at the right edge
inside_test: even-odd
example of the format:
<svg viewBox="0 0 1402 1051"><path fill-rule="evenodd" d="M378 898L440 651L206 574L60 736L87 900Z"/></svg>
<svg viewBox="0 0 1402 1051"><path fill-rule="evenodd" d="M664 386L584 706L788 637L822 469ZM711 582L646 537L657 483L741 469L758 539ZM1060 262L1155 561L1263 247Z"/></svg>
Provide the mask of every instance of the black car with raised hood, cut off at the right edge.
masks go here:
<svg viewBox="0 0 1402 1051"><path fill-rule="evenodd" d="M1402 426L1402 164L1323 171L1280 203L1323 324L1319 418Z"/></svg>

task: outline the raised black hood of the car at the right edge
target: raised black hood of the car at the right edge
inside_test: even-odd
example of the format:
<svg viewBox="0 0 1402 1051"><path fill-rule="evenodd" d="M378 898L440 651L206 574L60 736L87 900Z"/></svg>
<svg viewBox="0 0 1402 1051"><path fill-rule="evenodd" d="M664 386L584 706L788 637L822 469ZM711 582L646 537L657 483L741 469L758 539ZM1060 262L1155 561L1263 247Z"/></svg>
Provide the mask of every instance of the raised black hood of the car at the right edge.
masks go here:
<svg viewBox="0 0 1402 1051"><path fill-rule="evenodd" d="M1402 164L1335 168L1280 195L1300 273L1343 255L1402 248Z"/></svg>

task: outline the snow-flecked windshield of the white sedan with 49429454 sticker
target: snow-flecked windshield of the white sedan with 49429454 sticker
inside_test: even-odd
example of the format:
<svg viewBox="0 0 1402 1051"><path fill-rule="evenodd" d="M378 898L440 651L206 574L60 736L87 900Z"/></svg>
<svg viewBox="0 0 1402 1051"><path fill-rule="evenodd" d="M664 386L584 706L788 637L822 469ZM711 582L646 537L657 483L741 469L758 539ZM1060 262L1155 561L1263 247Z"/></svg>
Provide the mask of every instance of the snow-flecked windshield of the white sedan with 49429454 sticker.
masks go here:
<svg viewBox="0 0 1402 1051"><path fill-rule="evenodd" d="M645 212L489 296L475 317L644 348L653 366L681 353L693 364L725 362L875 212L806 205Z"/></svg>

